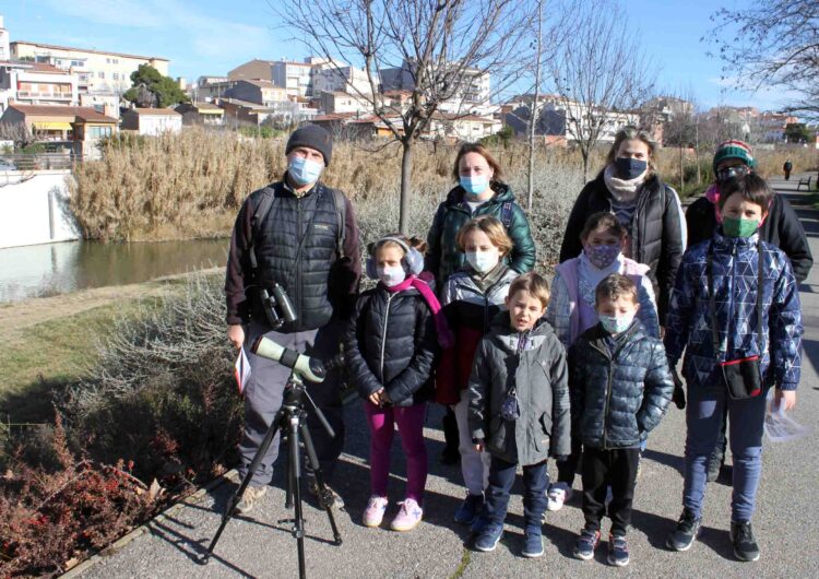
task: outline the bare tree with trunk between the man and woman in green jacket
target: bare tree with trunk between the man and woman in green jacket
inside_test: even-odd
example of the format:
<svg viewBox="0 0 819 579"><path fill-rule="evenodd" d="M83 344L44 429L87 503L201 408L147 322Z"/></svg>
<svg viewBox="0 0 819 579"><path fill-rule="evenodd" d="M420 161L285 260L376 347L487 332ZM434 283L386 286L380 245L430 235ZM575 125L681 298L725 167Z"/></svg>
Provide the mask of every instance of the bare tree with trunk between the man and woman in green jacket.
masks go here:
<svg viewBox="0 0 819 579"><path fill-rule="evenodd" d="M520 7L520 0L284 0L275 7L329 67L343 74L343 60L364 69L367 90L347 88L402 145L402 232L410 223L413 146L440 105L460 98L468 108L473 84L484 75L494 75L495 90L520 75L511 64L530 17ZM411 92L406 106L384 97L384 73L396 74Z"/></svg>

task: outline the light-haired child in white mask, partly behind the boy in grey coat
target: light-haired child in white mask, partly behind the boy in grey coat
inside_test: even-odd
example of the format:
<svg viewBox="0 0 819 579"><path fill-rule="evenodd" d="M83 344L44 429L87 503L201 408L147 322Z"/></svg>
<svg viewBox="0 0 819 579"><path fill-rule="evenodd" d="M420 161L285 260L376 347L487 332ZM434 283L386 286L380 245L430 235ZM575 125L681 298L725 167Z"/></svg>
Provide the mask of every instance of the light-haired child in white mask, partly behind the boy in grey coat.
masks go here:
<svg viewBox="0 0 819 579"><path fill-rule="evenodd" d="M472 444L467 423L468 390L475 351L488 332L492 318L502 311L509 286L518 276L503 261L512 240L503 224L489 215L466 223L458 232L458 248L466 264L451 275L443 287L441 305L454 333L454 347L444 350L437 370L436 402L448 404L459 430L461 473L466 499L454 513L456 522L471 524L484 505L488 484L489 456Z"/></svg>

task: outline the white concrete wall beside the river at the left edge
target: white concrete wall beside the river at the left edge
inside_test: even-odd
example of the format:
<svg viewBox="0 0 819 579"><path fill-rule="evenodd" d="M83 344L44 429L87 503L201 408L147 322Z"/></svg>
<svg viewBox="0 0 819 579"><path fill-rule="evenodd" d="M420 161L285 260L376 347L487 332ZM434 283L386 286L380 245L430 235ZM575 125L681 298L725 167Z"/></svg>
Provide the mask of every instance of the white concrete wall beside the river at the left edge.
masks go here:
<svg viewBox="0 0 819 579"><path fill-rule="evenodd" d="M80 238L68 209L70 170L0 172L0 248Z"/></svg>

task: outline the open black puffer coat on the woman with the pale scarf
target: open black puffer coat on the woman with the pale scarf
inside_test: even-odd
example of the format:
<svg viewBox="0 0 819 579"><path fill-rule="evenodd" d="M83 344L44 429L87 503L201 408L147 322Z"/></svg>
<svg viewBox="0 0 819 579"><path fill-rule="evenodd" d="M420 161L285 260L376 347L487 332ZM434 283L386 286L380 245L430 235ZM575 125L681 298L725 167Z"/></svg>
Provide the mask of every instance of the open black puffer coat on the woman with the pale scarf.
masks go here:
<svg viewBox="0 0 819 579"><path fill-rule="evenodd" d="M612 211L612 193L603 173L589 181L574 201L560 246L560 263L578 257L583 250L580 233L586 220L600 211ZM656 175L649 177L640 189L633 218L631 259L651 268L649 275L657 297L660 324L665 326L668 296L682 259L682 224L675 193Z"/></svg>

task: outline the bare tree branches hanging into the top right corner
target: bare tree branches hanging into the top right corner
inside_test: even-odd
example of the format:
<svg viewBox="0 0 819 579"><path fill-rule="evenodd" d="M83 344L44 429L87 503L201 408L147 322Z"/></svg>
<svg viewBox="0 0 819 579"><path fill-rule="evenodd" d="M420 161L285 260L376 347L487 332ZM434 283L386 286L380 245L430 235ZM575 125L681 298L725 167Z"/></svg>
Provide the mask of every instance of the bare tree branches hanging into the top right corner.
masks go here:
<svg viewBox="0 0 819 579"><path fill-rule="evenodd" d="M799 95L787 110L819 119L819 2L771 0L721 9L708 36L739 87L779 86Z"/></svg>

